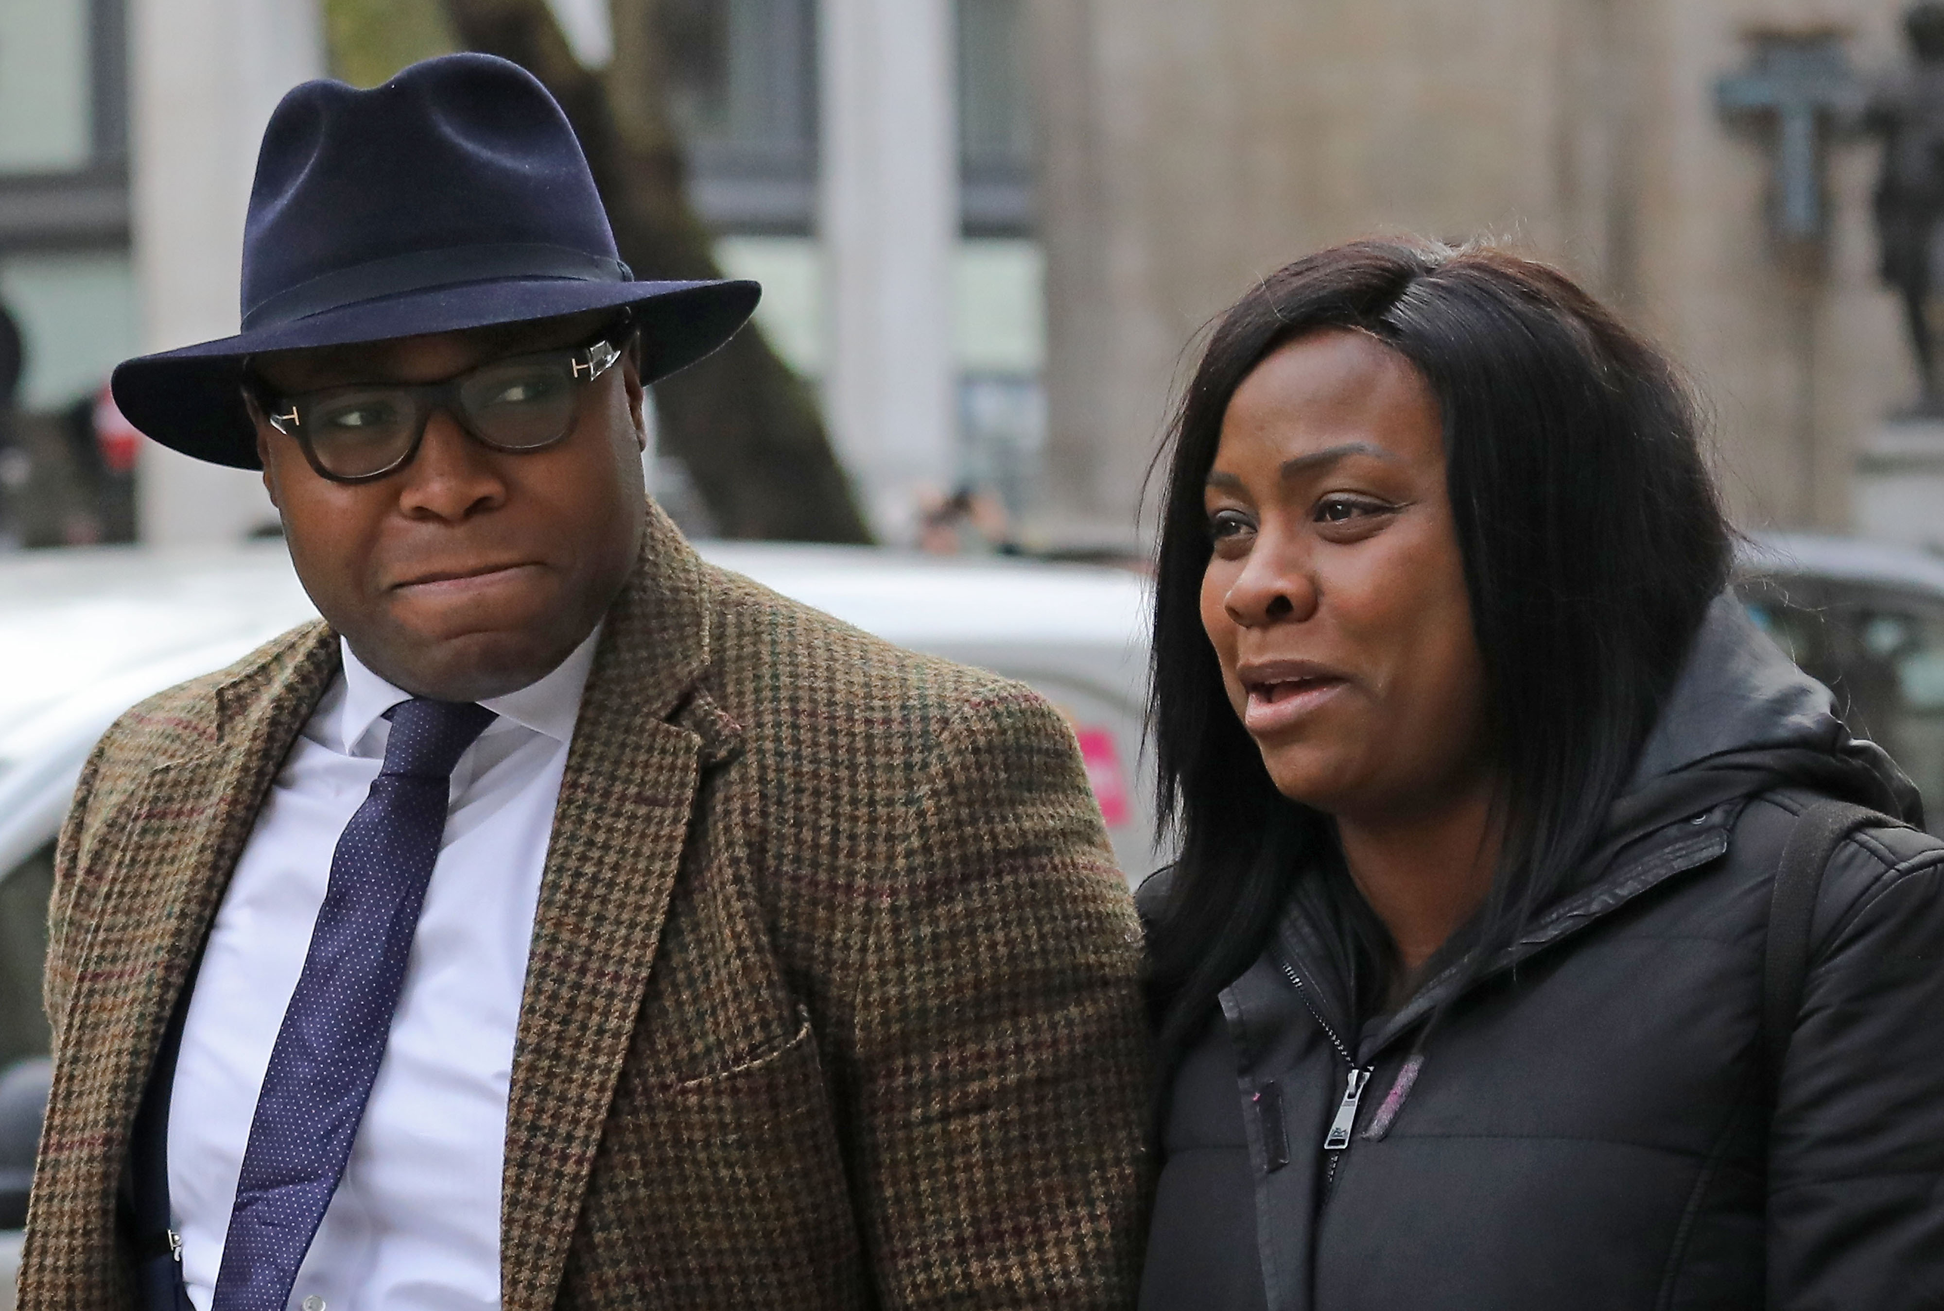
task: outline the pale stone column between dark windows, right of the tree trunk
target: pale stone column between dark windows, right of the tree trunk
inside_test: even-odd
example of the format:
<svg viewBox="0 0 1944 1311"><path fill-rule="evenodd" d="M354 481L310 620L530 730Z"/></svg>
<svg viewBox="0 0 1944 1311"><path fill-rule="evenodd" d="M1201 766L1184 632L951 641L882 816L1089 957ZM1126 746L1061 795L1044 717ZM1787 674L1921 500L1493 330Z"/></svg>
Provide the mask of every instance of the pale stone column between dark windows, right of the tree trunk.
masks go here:
<svg viewBox="0 0 1944 1311"><path fill-rule="evenodd" d="M956 468L958 134L949 0L820 6L824 410L881 538Z"/></svg>

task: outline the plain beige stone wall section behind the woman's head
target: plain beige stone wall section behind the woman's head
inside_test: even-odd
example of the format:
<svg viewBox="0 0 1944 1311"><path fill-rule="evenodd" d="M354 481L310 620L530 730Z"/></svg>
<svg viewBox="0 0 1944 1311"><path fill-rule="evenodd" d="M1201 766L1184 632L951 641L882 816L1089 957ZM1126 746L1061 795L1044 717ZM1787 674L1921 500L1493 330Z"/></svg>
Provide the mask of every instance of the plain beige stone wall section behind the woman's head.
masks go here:
<svg viewBox="0 0 1944 1311"><path fill-rule="evenodd" d="M1827 233L1785 241L1775 124L1724 118L1717 84L1773 41L1892 66L1899 0L1030 2L1069 530L1133 530L1184 344L1223 305L1386 231L1503 239L1617 303L1711 402L1740 524L1874 526L1857 456L1917 390L1876 280L1876 150L1823 132Z"/></svg>

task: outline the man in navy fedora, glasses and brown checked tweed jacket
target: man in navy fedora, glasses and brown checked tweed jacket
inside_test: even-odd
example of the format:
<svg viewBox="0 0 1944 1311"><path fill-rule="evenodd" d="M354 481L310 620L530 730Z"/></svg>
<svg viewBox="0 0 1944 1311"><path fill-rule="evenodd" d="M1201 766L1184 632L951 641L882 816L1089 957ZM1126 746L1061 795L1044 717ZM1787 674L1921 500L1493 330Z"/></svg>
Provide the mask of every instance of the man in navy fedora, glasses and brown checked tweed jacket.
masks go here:
<svg viewBox="0 0 1944 1311"><path fill-rule="evenodd" d="M1028 689L712 569L634 282L513 64L294 89L243 332L130 359L323 614L128 711L60 837L19 1305L1108 1307L1139 934Z"/></svg>

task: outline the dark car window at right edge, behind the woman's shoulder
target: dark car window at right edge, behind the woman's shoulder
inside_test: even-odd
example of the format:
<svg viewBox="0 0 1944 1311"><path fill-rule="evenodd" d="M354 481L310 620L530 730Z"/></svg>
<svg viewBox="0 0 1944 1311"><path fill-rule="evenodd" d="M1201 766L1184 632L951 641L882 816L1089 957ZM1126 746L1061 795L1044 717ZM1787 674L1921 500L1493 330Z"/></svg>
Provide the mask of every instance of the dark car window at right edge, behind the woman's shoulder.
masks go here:
<svg viewBox="0 0 1944 1311"><path fill-rule="evenodd" d="M1833 579L1742 585L1750 616L1835 693L1851 732L1911 777L1944 822L1944 602Z"/></svg>

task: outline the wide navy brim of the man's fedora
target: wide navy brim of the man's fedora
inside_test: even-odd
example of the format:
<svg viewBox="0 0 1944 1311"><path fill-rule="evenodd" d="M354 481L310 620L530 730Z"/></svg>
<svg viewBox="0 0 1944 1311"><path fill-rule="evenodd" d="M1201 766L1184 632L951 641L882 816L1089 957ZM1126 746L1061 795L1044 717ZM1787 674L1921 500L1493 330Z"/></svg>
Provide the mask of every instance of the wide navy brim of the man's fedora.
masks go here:
<svg viewBox="0 0 1944 1311"><path fill-rule="evenodd" d="M111 387L122 416L161 445L210 464L262 468L257 429L243 408L245 355L632 307L642 332L642 383L653 383L735 336L760 295L754 282L474 282L360 301L216 342L140 355L115 369Z"/></svg>

